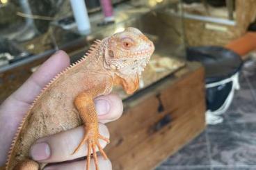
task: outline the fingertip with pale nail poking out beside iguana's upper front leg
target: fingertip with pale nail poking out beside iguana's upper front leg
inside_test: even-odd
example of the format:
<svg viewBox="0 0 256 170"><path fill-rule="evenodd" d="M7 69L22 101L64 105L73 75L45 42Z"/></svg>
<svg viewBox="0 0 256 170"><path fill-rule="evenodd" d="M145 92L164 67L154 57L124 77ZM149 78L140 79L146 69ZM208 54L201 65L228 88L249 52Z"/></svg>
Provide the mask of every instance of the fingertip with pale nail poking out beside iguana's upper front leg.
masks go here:
<svg viewBox="0 0 256 170"><path fill-rule="evenodd" d="M99 122L102 124L115 121L122 115L122 100L117 94L97 97L97 99L95 99L95 106Z"/></svg>

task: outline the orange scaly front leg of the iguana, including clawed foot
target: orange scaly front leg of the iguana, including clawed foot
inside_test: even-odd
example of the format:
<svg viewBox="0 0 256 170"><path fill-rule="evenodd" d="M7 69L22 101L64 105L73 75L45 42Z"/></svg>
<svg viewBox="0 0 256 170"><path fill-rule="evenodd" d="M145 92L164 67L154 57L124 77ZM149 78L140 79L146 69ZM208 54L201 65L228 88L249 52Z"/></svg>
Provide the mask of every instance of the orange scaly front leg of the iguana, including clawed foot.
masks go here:
<svg viewBox="0 0 256 170"><path fill-rule="evenodd" d="M81 146L87 142L87 145L88 145L87 167L86 167L87 170L89 170L89 167L90 167L91 151L93 151L93 159L95 162L95 167L97 170L99 169L97 155L96 155L96 147L99 148L99 151L100 153L102 153L103 157L107 159L106 153L104 153L102 146L100 146L99 144L99 139L103 139L104 141L109 143L109 139L99 134L97 112L95 110L95 104L93 102L93 96L95 96L95 94L97 94L97 92L92 92L92 91L83 92L79 94L74 100L74 105L79 111L80 117L84 124L84 131L85 131L85 134L83 135L83 139L79 144L79 146L77 146L77 148L74 150L74 153L77 153L77 151L79 151L79 148L81 148Z"/></svg>

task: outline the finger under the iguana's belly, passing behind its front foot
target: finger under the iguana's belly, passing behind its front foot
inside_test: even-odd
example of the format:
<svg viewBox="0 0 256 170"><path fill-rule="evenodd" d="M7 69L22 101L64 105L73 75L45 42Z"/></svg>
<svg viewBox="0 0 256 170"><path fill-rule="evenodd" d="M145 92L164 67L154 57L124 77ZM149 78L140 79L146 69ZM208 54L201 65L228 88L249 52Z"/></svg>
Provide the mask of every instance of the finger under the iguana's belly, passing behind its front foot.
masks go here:
<svg viewBox="0 0 256 170"><path fill-rule="evenodd" d="M77 153L72 155L74 149L77 148L83 139L83 129L83 126L79 126L78 128L67 130L63 133L39 139L31 147L33 160L39 162L63 162L87 155L87 142L81 146ZM109 130L104 124L99 124L99 134L104 137L109 137ZM102 139L99 139L99 144L103 148L106 146L106 142Z"/></svg>

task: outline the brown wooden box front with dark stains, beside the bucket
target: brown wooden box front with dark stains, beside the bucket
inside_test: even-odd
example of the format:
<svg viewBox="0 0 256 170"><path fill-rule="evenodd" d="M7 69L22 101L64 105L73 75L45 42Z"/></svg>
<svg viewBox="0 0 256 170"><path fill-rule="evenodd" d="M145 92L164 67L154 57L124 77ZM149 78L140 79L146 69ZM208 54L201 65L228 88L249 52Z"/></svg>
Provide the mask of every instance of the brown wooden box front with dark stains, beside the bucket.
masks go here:
<svg viewBox="0 0 256 170"><path fill-rule="evenodd" d="M124 101L118 121L107 124L106 152L113 169L154 169L205 128L204 69L188 63Z"/></svg>

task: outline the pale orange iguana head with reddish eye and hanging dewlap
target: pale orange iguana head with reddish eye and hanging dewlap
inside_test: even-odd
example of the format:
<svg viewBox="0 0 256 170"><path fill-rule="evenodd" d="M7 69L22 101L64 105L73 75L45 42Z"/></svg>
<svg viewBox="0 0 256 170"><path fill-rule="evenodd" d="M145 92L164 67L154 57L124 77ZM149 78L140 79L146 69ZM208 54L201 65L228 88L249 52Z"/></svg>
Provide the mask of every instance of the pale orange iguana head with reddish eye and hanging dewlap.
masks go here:
<svg viewBox="0 0 256 170"><path fill-rule="evenodd" d="M137 28L126 28L104 40L104 67L111 71L116 84L128 94L138 89L138 78L150 56L154 44Z"/></svg>

